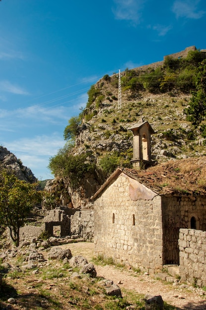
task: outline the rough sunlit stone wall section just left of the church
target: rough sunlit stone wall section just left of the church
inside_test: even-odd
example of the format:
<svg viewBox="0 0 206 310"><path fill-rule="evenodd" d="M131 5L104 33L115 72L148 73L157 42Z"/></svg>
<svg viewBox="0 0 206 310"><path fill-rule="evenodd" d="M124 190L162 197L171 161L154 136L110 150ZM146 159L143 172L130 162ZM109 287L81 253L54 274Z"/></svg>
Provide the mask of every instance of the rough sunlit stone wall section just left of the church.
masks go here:
<svg viewBox="0 0 206 310"><path fill-rule="evenodd" d="M70 234L94 239L94 210L78 210L70 216Z"/></svg>

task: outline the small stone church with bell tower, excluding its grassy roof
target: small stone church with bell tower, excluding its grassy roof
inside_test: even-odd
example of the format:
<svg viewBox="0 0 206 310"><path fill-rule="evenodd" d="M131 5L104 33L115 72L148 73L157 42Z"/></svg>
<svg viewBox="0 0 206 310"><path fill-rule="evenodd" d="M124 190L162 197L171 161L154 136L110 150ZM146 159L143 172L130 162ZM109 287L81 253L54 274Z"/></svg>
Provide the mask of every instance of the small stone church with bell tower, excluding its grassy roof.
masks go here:
<svg viewBox="0 0 206 310"><path fill-rule="evenodd" d="M140 170L153 164L154 130L143 119L130 130L133 169L117 168L93 196L95 254L154 273L179 264L180 228L206 230L206 195L177 191L176 178L177 187L157 186L166 169ZM206 167L205 157L193 160Z"/></svg>

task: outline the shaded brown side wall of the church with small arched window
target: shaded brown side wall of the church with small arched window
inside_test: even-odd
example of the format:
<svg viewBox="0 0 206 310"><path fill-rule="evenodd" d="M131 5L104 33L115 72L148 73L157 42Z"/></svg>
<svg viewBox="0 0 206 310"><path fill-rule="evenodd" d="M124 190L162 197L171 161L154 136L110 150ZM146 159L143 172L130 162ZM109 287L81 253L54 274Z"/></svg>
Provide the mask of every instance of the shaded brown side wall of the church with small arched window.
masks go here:
<svg viewBox="0 0 206 310"><path fill-rule="evenodd" d="M206 230L206 198L201 196L162 197L163 263L179 264L179 229Z"/></svg>

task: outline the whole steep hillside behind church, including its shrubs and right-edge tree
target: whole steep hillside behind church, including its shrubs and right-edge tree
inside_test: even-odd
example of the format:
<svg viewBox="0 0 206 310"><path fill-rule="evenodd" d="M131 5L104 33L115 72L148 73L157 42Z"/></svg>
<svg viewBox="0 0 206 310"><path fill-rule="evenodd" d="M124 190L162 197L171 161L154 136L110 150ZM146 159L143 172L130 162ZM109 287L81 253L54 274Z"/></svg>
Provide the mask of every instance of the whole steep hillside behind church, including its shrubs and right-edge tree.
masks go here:
<svg viewBox="0 0 206 310"><path fill-rule="evenodd" d="M117 166L131 167L132 132L143 117L155 131L152 156L158 162L205 155L205 53L190 51L185 58L125 69L121 73L122 101L118 108L118 74L105 75L88 91L88 102L68 120L66 144L51 158L55 177L64 178L69 194L87 196L85 180L93 178L93 192Z"/></svg>

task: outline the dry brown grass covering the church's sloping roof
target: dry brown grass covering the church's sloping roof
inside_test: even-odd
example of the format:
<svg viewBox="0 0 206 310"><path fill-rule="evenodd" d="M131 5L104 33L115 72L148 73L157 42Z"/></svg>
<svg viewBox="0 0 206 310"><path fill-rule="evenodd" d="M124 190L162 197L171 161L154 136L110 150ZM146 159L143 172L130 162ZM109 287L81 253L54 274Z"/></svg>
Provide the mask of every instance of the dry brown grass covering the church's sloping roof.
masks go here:
<svg viewBox="0 0 206 310"><path fill-rule="evenodd" d="M206 156L171 160L147 170L131 170L141 183L160 194L206 194Z"/></svg>

